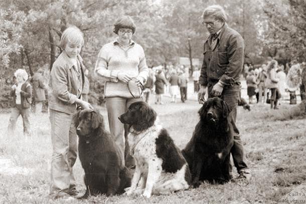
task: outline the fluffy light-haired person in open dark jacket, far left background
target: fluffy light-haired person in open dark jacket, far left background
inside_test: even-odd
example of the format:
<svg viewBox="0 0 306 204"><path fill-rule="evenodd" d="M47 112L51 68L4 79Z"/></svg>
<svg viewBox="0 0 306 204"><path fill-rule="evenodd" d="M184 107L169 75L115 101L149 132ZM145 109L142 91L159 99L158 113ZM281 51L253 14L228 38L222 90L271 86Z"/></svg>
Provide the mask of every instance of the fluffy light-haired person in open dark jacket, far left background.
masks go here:
<svg viewBox="0 0 306 204"><path fill-rule="evenodd" d="M30 107L32 102L32 86L27 82L28 73L26 70L18 69L14 75L16 77L16 84L12 86L10 93L14 98L14 104L8 127L8 135L14 135L17 119L21 115L24 124L24 135L31 136Z"/></svg>

